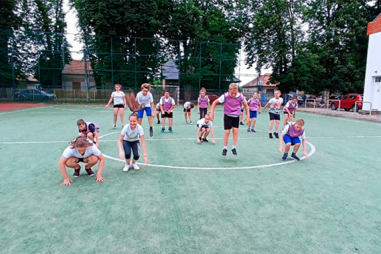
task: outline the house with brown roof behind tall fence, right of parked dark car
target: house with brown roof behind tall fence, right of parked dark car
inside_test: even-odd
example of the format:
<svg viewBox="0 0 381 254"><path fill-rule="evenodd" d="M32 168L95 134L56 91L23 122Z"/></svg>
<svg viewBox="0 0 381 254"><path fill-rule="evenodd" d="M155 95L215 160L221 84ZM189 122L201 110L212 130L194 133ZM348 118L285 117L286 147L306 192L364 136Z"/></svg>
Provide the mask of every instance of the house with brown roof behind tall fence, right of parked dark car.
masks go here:
<svg viewBox="0 0 381 254"><path fill-rule="evenodd" d="M86 90L87 85L95 88L95 80L89 61L73 60L62 70L62 88L67 90ZM90 89L90 90L91 90Z"/></svg>

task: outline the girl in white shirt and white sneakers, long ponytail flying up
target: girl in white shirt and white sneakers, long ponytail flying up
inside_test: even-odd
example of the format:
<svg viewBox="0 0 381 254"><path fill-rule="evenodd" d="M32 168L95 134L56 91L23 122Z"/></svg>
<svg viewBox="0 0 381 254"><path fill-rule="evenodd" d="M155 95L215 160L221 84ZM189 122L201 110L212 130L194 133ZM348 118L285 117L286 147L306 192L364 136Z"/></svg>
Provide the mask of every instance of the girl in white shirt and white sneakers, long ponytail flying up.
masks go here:
<svg viewBox="0 0 381 254"><path fill-rule="evenodd" d="M119 147L119 158L125 158L125 165L123 168L123 172L129 171L130 167L134 170L139 170L140 167L136 164L136 161L139 160L140 157L140 142L142 143L143 152L144 152L144 163L148 164L148 155L145 146L144 140L144 131L142 126L138 123L139 117L137 114L130 115L130 123L126 124L123 127L122 132L120 133L118 140ZM123 149L122 149L123 147ZM123 152L124 150L124 152ZM133 160L131 162L131 150L134 154ZM130 165L131 162L131 165Z"/></svg>

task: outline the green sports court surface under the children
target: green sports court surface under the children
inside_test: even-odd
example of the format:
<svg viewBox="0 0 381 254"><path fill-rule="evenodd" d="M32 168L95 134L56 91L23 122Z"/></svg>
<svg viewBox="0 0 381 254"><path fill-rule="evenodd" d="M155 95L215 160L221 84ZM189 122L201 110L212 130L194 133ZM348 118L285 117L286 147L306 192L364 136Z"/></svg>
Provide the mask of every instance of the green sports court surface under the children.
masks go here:
<svg viewBox="0 0 381 254"><path fill-rule="evenodd" d="M127 173L112 109L0 111L1 252L381 252L381 124L298 112L310 156L283 163L279 139L268 138L267 110L256 133L240 126L238 156L230 140L221 157L222 109L213 121L216 144L197 144L195 109L193 125L181 106L174 109L174 133L161 134L154 118L155 135L145 135L150 165ZM105 181L82 171L63 187L58 160L80 118L100 125Z"/></svg>

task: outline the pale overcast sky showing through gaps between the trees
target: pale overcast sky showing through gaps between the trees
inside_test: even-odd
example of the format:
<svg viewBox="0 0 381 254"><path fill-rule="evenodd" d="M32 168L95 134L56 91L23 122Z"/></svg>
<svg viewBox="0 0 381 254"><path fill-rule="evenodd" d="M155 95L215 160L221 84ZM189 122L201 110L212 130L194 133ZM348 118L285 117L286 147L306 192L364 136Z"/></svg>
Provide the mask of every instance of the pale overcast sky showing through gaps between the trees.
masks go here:
<svg viewBox="0 0 381 254"><path fill-rule="evenodd" d="M69 8L69 0L63 0L63 10L66 12L66 23L67 23L67 33L68 41L71 45L72 57L75 60L80 60L82 58L82 44L76 40L78 37L79 30L77 28L78 18L77 12L74 9ZM241 85L246 84L247 82L256 78L255 67L247 69L247 66L244 63L246 57L245 52L242 50L241 54L241 66L237 66L235 70L235 76L241 80ZM262 74L270 73L271 70L262 70Z"/></svg>

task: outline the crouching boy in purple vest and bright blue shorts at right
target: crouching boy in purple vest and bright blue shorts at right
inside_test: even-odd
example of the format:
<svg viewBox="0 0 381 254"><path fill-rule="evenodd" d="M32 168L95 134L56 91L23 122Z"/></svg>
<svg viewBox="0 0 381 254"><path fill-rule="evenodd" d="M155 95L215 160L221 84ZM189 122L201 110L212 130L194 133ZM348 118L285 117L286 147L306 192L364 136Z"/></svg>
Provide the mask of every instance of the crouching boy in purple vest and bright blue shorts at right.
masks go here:
<svg viewBox="0 0 381 254"><path fill-rule="evenodd" d="M282 152L283 150L283 140L285 143L284 147L284 154L282 157L282 160L287 160L287 156L289 155L290 147L294 146L294 151L291 154L291 158L293 158L296 161L300 161L300 158L296 155L296 153L299 150L300 147L300 139L302 138L303 143L303 155L308 157L308 154L306 152L306 134L304 132L304 120L299 118L296 120L296 122L288 122L283 127L283 131L280 135L280 146L279 146L279 152Z"/></svg>

